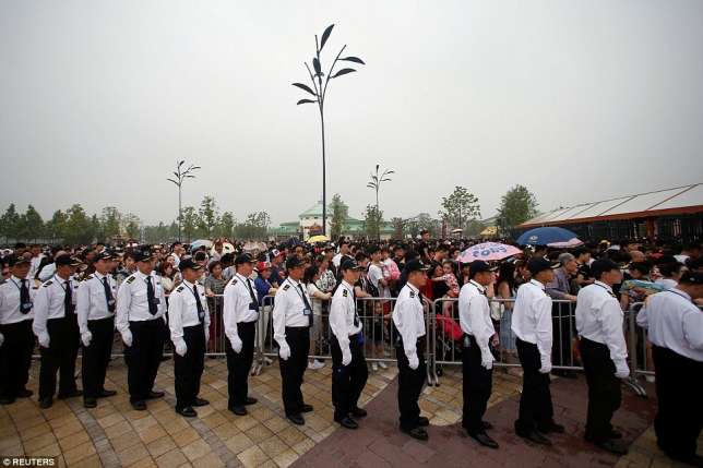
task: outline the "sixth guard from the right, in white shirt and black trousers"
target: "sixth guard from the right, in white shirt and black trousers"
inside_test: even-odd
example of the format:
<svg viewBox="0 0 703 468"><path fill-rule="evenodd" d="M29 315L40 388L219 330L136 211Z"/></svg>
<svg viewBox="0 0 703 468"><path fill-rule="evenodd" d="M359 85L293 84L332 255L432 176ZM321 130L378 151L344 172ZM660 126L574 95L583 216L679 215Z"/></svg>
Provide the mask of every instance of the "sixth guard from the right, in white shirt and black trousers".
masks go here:
<svg viewBox="0 0 703 468"><path fill-rule="evenodd" d="M369 370L364 358L361 322L356 309L354 285L361 267L352 259L339 265L342 283L332 296L330 328L332 329L332 403L334 420L347 429L358 429L357 421L366 410L359 408L359 397L366 386Z"/></svg>

